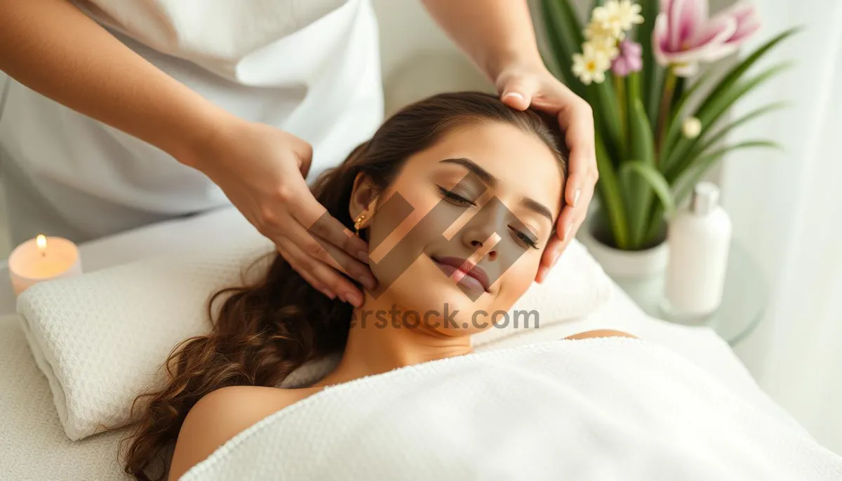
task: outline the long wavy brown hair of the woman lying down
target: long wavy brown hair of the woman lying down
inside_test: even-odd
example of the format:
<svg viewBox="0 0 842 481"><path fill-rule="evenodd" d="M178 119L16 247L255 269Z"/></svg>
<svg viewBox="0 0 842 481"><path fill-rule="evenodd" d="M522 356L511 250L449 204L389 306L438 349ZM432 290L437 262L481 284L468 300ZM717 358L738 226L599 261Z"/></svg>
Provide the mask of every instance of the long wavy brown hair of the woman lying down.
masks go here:
<svg viewBox="0 0 842 481"><path fill-rule="evenodd" d="M349 202L358 173L384 189L409 156L457 125L476 122L512 124L535 134L554 151L567 177L557 120L533 110L514 110L486 93L454 92L394 114L340 166L322 173L312 193L350 229L354 222ZM352 311L350 304L312 288L280 255L258 282L215 293L208 304L214 320L210 334L176 346L165 363L168 378L163 389L135 400L131 419L136 421L123 440L129 445L125 472L143 480L165 478L174 441L199 399L226 386L278 386L304 363L341 352Z"/></svg>

